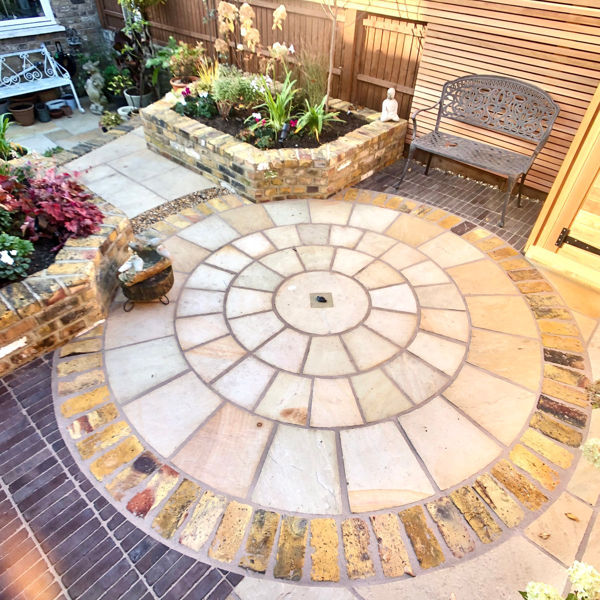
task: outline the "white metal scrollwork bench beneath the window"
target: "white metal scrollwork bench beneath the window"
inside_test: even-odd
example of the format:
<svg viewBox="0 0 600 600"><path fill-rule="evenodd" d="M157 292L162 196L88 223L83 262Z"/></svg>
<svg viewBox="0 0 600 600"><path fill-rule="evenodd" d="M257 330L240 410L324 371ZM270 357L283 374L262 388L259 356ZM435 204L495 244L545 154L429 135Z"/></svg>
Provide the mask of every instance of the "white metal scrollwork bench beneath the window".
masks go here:
<svg viewBox="0 0 600 600"><path fill-rule="evenodd" d="M85 112L67 70L59 65L46 48L22 50L0 55L0 98L70 86L80 112Z"/></svg>

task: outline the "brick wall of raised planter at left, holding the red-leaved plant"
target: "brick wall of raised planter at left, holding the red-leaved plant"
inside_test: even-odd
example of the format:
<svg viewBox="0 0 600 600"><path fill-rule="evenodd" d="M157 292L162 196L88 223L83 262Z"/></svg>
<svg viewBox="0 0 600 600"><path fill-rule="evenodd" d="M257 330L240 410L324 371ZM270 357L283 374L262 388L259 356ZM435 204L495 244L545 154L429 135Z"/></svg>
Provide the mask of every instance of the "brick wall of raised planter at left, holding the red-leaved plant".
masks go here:
<svg viewBox="0 0 600 600"><path fill-rule="evenodd" d="M115 206L92 202L105 215L97 235L70 239L47 269L0 289L0 377L106 316L133 231Z"/></svg>

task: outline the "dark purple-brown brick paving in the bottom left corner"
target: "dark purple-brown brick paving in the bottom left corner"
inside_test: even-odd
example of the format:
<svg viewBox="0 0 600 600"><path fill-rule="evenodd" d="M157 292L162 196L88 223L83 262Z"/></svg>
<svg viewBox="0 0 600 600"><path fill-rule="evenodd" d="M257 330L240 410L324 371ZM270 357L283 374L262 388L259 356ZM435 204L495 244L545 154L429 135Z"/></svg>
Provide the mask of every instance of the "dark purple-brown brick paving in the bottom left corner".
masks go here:
<svg viewBox="0 0 600 600"><path fill-rule="evenodd" d="M90 484L58 431L50 355L0 380L0 598L224 600L240 575L160 544Z"/></svg>

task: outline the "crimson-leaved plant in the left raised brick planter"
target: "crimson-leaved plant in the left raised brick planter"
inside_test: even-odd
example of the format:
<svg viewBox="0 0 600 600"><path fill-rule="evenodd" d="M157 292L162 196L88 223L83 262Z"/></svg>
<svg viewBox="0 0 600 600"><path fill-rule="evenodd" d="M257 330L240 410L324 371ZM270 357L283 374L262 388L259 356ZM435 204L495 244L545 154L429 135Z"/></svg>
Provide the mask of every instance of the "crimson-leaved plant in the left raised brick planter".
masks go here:
<svg viewBox="0 0 600 600"><path fill-rule="evenodd" d="M97 232L104 215L94 203L92 194L84 190L68 173L49 169L44 175L19 178L0 175L0 206L21 213L23 237L35 241L40 236L58 236L62 248L69 238L80 238Z"/></svg>

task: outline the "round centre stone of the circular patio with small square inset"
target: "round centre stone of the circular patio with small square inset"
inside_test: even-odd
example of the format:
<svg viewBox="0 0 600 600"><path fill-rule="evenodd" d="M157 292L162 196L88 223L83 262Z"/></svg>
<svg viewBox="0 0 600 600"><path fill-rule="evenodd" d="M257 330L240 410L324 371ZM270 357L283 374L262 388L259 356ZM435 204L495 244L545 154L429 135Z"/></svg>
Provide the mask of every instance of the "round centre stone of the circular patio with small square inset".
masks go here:
<svg viewBox="0 0 600 600"><path fill-rule="evenodd" d="M275 294L275 309L288 325L309 334L338 334L367 316L369 296L346 275L316 271L294 275Z"/></svg>

